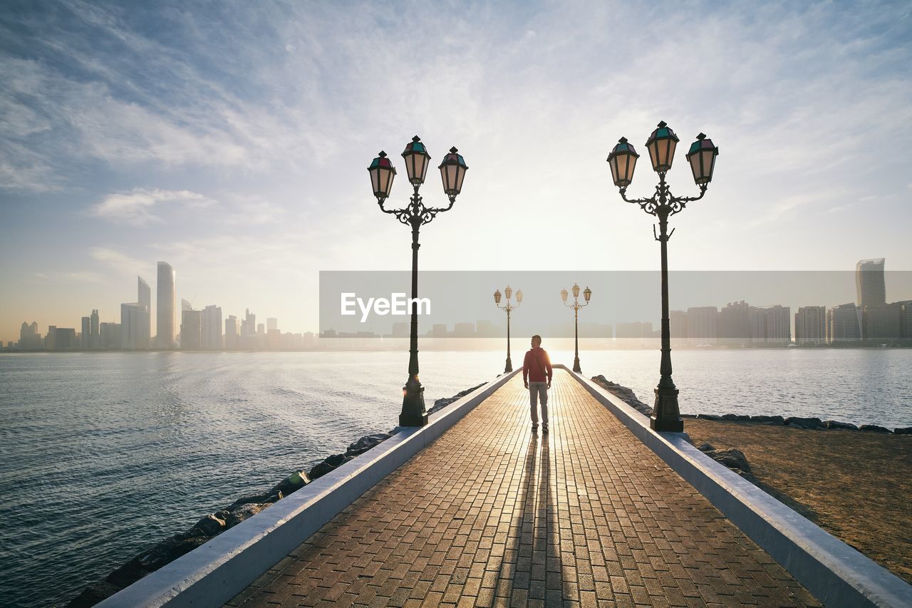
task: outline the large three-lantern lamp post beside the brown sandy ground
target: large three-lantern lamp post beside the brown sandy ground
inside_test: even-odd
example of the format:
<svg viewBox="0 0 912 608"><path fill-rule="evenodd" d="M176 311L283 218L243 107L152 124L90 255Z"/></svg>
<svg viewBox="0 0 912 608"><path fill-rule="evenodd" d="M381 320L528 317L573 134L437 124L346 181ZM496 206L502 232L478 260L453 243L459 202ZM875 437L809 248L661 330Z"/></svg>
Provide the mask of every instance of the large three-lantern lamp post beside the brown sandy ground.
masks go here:
<svg viewBox="0 0 912 608"><path fill-rule="evenodd" d="M659 234L656 235L656 226L652 226L652 234L661 243L662 248L662 362L659 366L661 379L656 387L656 404L653 407L652 419L649 425L657 431L683 431L684 421L680 418L678 409L678 389L671 380L671 346L668 328L668 239L674 233L668 232L668 215L675 215L684 209L684 205L691 201L699 201L706 194L706 189L712 180L712 170L715 168L716 156L719 148L700 133L697 141L690 144L687 160L693 181L700 186L700 196L673 196L665 183L665 173L671 169L671 162L675 155L675 146L678 136L662 121L658 129L652 131L646 142L649 151L649 160L653 170L658 173L656 193L648 198L627 198L627 186L633 180L633 170L637 164L639 154L627 142L627 138L618 140L614 150L608 154L608 164L611 166L611 177L620 189L621 198L627 203L638 204L643 211L658 217Z"/></svg>

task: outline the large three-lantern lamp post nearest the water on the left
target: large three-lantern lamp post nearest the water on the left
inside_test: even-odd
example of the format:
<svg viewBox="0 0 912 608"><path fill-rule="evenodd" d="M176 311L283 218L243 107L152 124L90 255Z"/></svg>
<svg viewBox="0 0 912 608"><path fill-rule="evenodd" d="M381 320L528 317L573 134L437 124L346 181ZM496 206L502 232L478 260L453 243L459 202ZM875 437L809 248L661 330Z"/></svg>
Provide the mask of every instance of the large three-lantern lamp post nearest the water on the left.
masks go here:
<svg viewBox="0 0 912 608"><path fill-rule="evenodd" d="M440 178L443 180L443 192L450 199L446 207L427 207L418 194L424 176L428 173L430 154L421 143L418 135L411 138L411 142L402 152L405 159L406 170L409 173L409 183L414 188L409 204L401 209L386 209L383 204L392 189L396 169L387 158L386 152L380 152L378 157L370 163L368 172L370 182L374 188L374 196L380 205L380 211L385 214L396 215L402 224L411 226L411 336L409 342L409 380L402 387L402 413L399 414L401 426L424 426L428 424L428 413L424 408L424 387L418 380L418 230L421 225L428 224L430 220L444 211L450 211L456 196L462 190L462 180L469 168L465 164L459 151L451 148L450 153L440 162Z"/></svg>

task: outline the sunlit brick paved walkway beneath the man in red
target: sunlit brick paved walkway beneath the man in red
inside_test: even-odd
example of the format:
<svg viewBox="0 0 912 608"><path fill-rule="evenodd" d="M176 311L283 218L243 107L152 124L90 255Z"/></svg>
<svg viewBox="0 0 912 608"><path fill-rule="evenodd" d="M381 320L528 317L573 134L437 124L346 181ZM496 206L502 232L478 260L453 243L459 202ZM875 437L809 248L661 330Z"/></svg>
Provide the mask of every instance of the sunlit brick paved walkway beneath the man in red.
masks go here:
<svg viewBox="0 0 912 608"><path fill-rule="evenodd" d="M517 375L229 605L819 605L555 370Z"/></svg>

